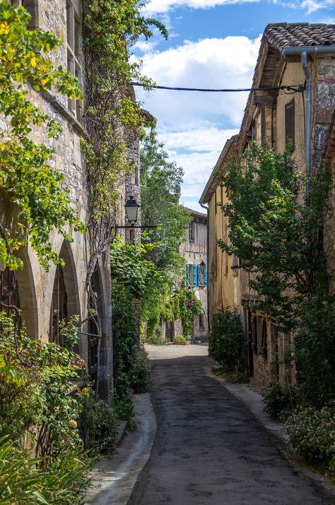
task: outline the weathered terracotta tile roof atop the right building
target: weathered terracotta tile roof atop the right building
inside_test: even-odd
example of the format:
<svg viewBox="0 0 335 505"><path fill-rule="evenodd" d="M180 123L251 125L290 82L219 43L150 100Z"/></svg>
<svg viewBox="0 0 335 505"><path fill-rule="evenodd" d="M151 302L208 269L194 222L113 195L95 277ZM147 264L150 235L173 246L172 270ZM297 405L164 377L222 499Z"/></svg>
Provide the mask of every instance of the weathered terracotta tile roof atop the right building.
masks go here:
<svg viewBox="0 0 335 505"><path fill-rule="evenodd" d="M284 47L335 45L335 25L271 23L264 36L278 51Z"/></svg>

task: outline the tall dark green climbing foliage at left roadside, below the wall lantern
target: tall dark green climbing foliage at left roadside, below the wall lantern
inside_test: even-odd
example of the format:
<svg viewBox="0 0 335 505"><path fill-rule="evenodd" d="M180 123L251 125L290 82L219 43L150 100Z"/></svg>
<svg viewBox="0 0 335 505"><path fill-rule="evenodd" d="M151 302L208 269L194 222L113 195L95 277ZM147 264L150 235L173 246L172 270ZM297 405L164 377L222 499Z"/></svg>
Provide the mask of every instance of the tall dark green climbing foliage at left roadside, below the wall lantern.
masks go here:
<svg viewBox="0 0 335 505"><path fill-rule="evenodd" d="M148 391L150 369L139 338L139 303L130 287L112 290L115 394L117 399Z"/></svg>

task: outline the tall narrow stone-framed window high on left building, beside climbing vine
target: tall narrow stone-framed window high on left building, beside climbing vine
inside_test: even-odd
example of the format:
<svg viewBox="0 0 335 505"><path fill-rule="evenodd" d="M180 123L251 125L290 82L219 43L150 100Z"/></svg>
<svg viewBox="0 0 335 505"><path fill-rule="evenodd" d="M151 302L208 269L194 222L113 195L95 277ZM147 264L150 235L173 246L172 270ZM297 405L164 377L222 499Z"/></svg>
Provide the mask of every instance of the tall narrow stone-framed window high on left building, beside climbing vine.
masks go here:
<svg viewBox="0 0 335 505"><path fill-rule="evenodd" d="M67 69L71 72L82 85L83 71L81 68L81 47L82 33L81 23L76 16L76 11L71 1L66 2L66 37L67 37ZM74 117L81 121L83 112L83 103L81 100L68 100L69 110Z"/></svg>

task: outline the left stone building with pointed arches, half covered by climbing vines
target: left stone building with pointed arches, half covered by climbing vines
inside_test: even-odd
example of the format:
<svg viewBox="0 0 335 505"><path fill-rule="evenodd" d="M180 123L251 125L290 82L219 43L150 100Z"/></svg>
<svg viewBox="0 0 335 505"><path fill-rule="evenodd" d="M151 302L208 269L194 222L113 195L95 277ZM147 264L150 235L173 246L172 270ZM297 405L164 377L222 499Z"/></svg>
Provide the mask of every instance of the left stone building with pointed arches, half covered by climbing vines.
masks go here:
<svg viewBox="0 0 335 505"><path fill-rule="evenodd" d="M64 43L51 55L57 66L68 69L78 78L85 92L85 70L83 65L83 1L82 0L12 0L23 5L32 19L31 28L42 28L54 32ZM45 131L35 129L33 139L54 148L56 154L52 167L64 174L64 184L70 189L71 202L78 215L87 222L89 202L87 173L81 152L81 138L88 138L83 124L83 102L68 100L49 91L37 92L29 88L28 97L42 112L61 124L63 131L57 140L50 141ZM129 158L134 160L134 175L122 184L122 208L128 196L139 195L139 142L136 132L128 136ZM1 198L0 221L6 227L13 219L16 208ZM120 215L124 225L124 213ZM64 259L65 266L50 265L45 271L37 261L30 246L19 252L24 268L18 271L16 302L31 338L40 338L61 344L59 323L78 315L81 321L88 316L86 287L87 266L90 259L87 234L66 230L74 242L66 242L60 235L52 234L54 251ZM129 233L129 231L127 230ZM0 274L1 290L6 285L8 273ZM102 324L102 338L98 342L96 327L91 321L81 326L78 333L78 352L86 361L88 373L98 382L101 396L107 396L112 388L112 303L110 293L110 261L108 248L95 264L91 278L93 291ZM100 349L100 352L99 352ZM97 380L98 379L98 380Z"/></svg>

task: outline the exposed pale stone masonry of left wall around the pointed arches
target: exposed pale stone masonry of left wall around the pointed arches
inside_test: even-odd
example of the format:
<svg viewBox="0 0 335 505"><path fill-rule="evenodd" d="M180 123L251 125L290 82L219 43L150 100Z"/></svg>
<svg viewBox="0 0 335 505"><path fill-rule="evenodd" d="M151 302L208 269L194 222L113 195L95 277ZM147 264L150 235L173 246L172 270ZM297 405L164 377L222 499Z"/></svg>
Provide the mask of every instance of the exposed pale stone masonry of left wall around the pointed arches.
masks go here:
<svg viewBox="0 0 335 505"><path fill-rule="evenodd" d="M52 54L51 59L54 64L67 68L67 30L66 30L66 0L39 0L38 1L38 28L50 30L64 40L57 52ZM74 16L76 17L77 29L81 28L82 1L72 2ZM80 30L79 30L80 31ZM79 32L78 40L82 41L82 34ZM83 54L77 54L78 61L83 61ZM81 84L85 78L81 75ZM87 173L83 155L81 153L81 137L86 138L86 130L76 116L69 109L71 105L66 97L61 97L58 93L45 92L37 93L32 88L28 88L28 98L35 103L42 112L57 120L63 131L59 138L49 140L45 129L34 129L31 134L37 143L44 142L49 148L55 150L51 165L55 170L64 174L65 186L70 189L71 203L76 208L79 217L83 222L88 220L88 186ZM0 124L4 128L4 121ZM129 155L138 158L138 143L134 141L132 145L134 153L129 150ZM5 203L5 205L4 205ZM1 199L0 220L5 226L15 222L17 209L6 205L6 201ZM51 235L54 250L65 261L61 276L64 279L64 289L66 290L66 311L67 316L78 314L81 319L86 319L88 315L88 302L86 294L87 265L90 257L88 237L86 235L66 230L74 239L74 242L64 242L63 237L53 232ZM50 321L52 321L52 311L57 310L52 306L52 298L55 287L55 276L57 268L51 265L49 271L45 271L37 261L37 256L30 246L20 251L20 256L24 261L23 271L18 273L18 293L20 297L20 307L23 321L32 338L48 340ZM63 282L63 281L62 281ZM98 262L95 275L95 290L98 292L99 312L102 320L102 342L100 347L100 364L98 375L100 379L100 391L103 396L107 396L112 386L112 327L111 315L112 305L110 298L110 261L109 253L105 254ZM88 324L84 324L79 333L79 352L86 363L89 361L89 339ZM95 360L97 356L95 356Z"/></svg>

